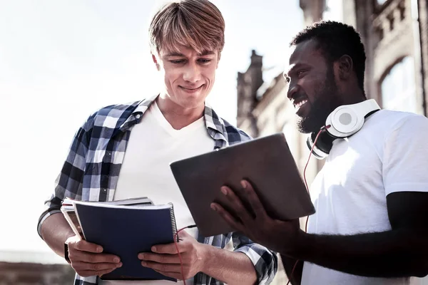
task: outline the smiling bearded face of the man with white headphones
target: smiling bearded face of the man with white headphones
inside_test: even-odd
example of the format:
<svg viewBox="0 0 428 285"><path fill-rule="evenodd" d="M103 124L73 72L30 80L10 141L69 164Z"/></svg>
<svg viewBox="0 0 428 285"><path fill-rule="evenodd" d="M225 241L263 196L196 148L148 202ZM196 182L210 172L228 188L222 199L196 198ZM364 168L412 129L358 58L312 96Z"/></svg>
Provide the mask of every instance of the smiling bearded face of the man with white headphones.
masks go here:
<svg viewBox="0 0 428 285"><path fill-rule="evenodd" d="M320 130L327 116L340 105L333 68L315 39L295 46L284 77L288 83L287 97L295 106L301 133Z"/></svg>

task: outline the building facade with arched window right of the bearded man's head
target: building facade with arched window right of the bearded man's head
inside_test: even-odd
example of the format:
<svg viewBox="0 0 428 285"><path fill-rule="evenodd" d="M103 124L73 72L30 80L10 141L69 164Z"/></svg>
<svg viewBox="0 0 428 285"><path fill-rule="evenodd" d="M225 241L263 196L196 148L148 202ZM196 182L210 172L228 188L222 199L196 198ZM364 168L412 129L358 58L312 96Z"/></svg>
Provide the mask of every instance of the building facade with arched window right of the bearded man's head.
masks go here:
<svg viewBox="0 0 428 285"><path fill-rule="evenodd" d="M426 0L355 0L367 52L365 89L382 108L427 115Z"/></svg>

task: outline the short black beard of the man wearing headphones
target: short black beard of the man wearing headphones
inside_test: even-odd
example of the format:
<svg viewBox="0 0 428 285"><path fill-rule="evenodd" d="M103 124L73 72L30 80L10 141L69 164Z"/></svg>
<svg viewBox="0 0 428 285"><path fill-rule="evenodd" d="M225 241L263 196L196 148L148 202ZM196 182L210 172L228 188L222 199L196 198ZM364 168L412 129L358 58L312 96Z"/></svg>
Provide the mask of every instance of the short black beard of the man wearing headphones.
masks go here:
<svg viewBox="0 0 428 285"><path fill-rule="evenodd" d="M310 113L306 117L298 117L297 130L300 133L315 133L325 125L328 115L337 107L337 86L332 68L327 71L327 78L320 86L314 102L311 103ZM310 103L310 102L307 102Z"/></svg>

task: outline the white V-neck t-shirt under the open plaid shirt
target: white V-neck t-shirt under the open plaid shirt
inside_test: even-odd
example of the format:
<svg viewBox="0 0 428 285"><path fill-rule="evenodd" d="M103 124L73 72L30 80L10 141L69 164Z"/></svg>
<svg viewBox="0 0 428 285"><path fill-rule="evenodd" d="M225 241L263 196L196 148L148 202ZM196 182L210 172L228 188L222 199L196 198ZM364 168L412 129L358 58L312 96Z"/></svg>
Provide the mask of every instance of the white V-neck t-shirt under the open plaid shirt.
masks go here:
<svg viewBox="0 0 428 285"><path fill-rule="evenodd" d="M195 224L169 164L210 152L214 144L205 128L204 118L175 130L153 102L141 123L133 126L113 199L147 196L155 204L172 202L178 229ZM197 229L185 231L197 238ZM166 285L183 284L183 281L103 281L101 284ZM193 280L186 280L186 284L193 284Z"/></svg>

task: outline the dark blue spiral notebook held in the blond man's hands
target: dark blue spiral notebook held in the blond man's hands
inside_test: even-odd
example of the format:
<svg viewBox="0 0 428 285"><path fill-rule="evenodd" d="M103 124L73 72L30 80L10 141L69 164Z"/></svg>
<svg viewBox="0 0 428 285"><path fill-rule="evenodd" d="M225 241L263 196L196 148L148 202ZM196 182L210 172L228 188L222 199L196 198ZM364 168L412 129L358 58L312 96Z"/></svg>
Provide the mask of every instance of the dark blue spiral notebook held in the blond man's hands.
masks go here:
<svg viewBox="0 0 428 285"><path fill-rule="evenodd" d="M174 242L173 204L118 206L76 201L74 207L86 241L121 258L123 265L104 274L103 280L177 281L143 267L138 259L138 253L151 252L153 245Z"/></svg>

